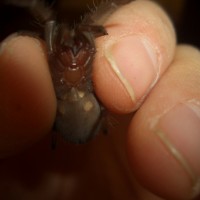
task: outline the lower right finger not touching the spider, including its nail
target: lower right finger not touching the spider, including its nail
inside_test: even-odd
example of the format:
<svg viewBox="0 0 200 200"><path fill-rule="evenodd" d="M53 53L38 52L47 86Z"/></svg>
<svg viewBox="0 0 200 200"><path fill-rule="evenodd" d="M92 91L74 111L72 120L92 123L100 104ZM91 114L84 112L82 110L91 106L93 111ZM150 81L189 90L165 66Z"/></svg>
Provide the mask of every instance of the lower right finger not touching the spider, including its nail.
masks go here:
<svg viewBox="0 0 200 200"><path fill-rule="evenodd" d="M174 62L135 114L128 154L138 180L165 199L200 192L200 52L179 46Z"/></svg>

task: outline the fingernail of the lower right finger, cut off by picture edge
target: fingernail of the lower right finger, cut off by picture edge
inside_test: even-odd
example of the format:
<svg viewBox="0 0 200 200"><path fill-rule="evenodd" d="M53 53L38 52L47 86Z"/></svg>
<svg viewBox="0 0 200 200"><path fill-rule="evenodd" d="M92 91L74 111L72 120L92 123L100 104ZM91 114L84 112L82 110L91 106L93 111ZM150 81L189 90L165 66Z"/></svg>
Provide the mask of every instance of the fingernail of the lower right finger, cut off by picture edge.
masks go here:
<svg viewBox="0 0 200 200"><path fill-rule="evenodd" d="M190 198L200 193L200 103L176 105L158 121L156 135L186 172Z"/></svg>

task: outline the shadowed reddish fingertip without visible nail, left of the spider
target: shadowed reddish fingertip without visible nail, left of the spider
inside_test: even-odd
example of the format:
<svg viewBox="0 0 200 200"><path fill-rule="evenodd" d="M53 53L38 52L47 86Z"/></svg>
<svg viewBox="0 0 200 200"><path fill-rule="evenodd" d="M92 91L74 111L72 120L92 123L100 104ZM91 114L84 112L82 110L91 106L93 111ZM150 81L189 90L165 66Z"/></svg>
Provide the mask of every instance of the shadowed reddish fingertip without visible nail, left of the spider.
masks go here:
<svg viewBox="0 0 200 200"><path fill-rule="evenodd" d="M0 155L16 153L47 134L55 94L42 43L12 35L0 51Z"/></svg>

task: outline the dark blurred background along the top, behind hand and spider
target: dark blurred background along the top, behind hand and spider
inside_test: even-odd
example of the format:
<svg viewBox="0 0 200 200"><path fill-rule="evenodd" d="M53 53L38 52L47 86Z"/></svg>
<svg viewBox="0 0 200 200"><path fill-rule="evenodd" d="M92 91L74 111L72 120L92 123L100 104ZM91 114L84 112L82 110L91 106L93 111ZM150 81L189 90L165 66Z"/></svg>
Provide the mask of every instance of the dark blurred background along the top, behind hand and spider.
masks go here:
<svg viewBox="0 0 200 200"><path fill-rule="evenodd" d="M99 0L100 1L100 0ZM57 12L59 18L69 24L78 23L80 17L93 7L93 0L49 0L47 1ZM197 0L157 0L169 13L177 30L178 42L189 43L200 47L200 6ZM0 40L9 34L29 30L42 32L41 24L26 9L5 6L0 1Z"/></svg>

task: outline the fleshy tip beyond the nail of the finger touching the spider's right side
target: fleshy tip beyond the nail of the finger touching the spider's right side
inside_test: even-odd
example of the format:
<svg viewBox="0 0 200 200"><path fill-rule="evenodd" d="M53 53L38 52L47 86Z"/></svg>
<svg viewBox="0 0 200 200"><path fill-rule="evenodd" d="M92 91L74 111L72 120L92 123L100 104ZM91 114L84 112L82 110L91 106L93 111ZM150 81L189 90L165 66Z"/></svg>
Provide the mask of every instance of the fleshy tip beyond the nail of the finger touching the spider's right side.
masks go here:
<svg viewBox="0 0 200 200"><path fill-rule="evenodd" d="M101 67L95 66L97 62ZM93 68L95 93L103 105L115 113L129 113L133 107L133 101L123 84L118 81L104 59L96 58L95 63Z"/></svg>

